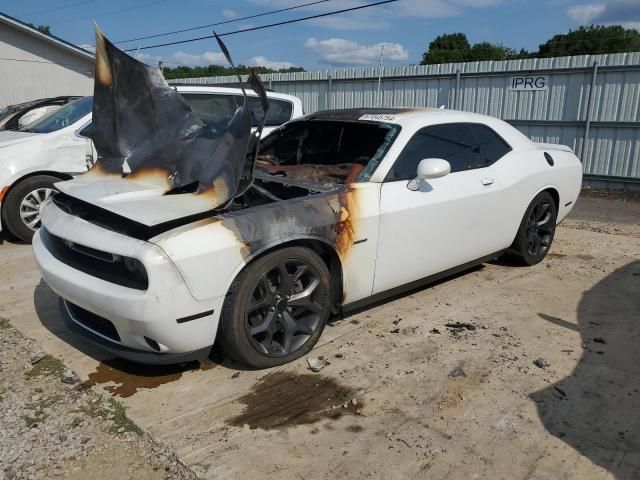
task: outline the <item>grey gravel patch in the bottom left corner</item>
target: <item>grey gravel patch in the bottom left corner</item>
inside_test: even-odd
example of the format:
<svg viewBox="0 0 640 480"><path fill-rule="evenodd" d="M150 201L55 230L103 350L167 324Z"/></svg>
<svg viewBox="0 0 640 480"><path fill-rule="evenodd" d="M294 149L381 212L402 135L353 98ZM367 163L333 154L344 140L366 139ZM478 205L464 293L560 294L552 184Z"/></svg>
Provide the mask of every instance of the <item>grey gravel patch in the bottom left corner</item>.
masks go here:
<svg viewBox="0 0 640 480"><path fill-rule="evenodd" d="M122 404L80 383L6 319L0 319L0 424L0 479L197 478Z"/></svg>

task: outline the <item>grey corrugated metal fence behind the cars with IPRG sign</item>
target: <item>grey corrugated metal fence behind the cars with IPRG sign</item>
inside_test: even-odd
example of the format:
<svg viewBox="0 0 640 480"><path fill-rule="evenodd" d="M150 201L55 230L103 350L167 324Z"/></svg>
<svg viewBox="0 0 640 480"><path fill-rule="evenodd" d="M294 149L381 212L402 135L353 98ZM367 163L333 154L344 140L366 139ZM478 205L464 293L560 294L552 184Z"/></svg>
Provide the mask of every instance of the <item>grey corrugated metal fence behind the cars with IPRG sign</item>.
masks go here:
<svg viewBox="0 0 640 480"><path fill-rule="evenodd" d="M510 88L543 75L544 90ZM525 60L349 68L262 76L307 113L330 108L440 107L502 118L534 141L571 146L592 178L640 181L640 52ZM173 80L221 84L235 77Z"/></svg>

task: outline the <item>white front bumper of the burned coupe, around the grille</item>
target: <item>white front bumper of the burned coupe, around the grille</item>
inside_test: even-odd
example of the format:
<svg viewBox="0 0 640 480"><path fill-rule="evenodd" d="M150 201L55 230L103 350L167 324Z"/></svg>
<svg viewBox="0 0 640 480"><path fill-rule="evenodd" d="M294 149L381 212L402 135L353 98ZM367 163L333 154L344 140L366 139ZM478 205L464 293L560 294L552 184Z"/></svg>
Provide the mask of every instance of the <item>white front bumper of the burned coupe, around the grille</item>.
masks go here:
<svg viewBox="0 0 640 480"><path fill-rule="evenodd" d="M63 318L76 332L117 356L142 363L179 363L200 359L215 341L224 297L193 298L179 272L158 246L91 224L49 202L42 209L43 229L33 238L33 251L44 281L66 302ZM56 258L47 234L104 252L140 260L148 274L146 290L97 278ZM74 305L101 318L115 332L90 328L67 308ZM206 357L206 355L204 355Z"/></svg>

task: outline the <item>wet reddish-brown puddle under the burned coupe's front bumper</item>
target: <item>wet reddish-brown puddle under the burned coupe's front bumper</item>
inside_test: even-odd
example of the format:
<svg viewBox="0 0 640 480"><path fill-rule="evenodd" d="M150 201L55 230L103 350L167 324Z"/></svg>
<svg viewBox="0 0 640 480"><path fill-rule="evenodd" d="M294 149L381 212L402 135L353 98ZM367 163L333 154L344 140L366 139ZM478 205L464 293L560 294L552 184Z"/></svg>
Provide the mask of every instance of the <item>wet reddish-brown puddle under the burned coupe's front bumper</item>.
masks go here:
<svg viewBox="0 0 640 480"><path fill-rule="evenodd" d="M112 395L130 397L140 388L156 388L178 380L184 372L210 370L215 366L215 363L200 364L199 362L154 366L113 358L101 362L96 371L89 374L89 380L84 384L86 387L91 387L97 384L114 383L115 385L106 385L104 389Z"/></svg>

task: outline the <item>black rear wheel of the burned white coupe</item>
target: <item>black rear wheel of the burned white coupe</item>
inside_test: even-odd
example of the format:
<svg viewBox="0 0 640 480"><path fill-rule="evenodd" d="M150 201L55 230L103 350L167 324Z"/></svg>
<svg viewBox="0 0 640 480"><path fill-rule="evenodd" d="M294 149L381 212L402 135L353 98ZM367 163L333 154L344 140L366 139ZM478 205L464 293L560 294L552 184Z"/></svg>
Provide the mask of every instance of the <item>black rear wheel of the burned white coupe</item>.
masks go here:
<svg viewBox="0 0 640 480"><path fill-rule="evenodd" d="M540 192L522 217L509 256L522 265L535 265L546 257L556 231L558 207L549 192Z"/></svg>

